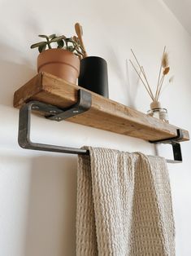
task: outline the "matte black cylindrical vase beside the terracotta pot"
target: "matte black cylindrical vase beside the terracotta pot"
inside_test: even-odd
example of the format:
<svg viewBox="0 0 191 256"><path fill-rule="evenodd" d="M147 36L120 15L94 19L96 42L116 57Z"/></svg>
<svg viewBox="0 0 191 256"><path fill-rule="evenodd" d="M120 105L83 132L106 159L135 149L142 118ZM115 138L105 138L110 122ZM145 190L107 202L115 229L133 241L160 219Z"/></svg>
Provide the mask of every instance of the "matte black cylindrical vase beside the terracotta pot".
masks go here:
<svg viewBox="0 0 191 256"><path fill-rule="evenodd" d="M108 98L106 60L95 56L82 59L80 61L78 85Z"/></svg>

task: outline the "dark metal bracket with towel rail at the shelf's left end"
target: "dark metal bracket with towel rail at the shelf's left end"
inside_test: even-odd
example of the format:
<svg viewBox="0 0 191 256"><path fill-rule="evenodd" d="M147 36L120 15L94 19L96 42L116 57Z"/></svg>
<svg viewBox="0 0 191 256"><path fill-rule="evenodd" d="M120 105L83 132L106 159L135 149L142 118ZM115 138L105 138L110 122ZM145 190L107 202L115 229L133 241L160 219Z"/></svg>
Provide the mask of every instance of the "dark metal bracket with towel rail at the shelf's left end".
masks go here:
<svg viewBox="0 0 191 256"><path fill-rule="evenodd" d="M20 120L19 120L19 136L18 142L21 148L49 151L49 152L64 152L71 154L89 154L87 150L80 148L67 148L43 143L33 143L30 139L30 124L31 113L33 110L43 112L46 118L51 120L61 121L68 117L76 116L80 113L84 113L91 108L92 96L86 90L78 90L78 101L70 108L61 109L50 104L44 104L39 101L30 101L28 104L24 104L20 108Z"/></svg>

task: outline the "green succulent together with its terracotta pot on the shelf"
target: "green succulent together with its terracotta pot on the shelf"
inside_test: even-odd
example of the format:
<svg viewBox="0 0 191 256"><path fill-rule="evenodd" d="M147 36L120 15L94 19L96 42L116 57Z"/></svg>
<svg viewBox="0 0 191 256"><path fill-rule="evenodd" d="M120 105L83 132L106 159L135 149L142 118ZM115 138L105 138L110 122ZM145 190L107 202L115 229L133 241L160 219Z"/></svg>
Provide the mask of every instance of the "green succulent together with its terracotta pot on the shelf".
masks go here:
<svg viewBox="0 0 191 256"><path fill-rule="evenodd" d="M80 73L80 59L84 55L76 37L39 35L44 42L37 42L31 48L38 48L37 71L51 73L67 82L76 84ZM48 49L46 49L48 48Z"/></svg>

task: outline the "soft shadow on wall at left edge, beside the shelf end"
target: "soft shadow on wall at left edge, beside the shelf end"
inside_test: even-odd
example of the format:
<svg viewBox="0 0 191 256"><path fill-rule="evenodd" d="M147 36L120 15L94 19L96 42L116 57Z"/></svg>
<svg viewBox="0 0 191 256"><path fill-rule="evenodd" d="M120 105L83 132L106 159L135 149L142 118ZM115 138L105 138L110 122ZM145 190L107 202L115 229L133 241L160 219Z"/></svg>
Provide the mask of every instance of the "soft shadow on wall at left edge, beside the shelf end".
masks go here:
<svg viewBox="0 0 191 256"><path fill-rule="evenodd" d="M24 52L6 45L0 45L0 104L12 106L15 90L28 82L28 77L37 74Z"/></svg>

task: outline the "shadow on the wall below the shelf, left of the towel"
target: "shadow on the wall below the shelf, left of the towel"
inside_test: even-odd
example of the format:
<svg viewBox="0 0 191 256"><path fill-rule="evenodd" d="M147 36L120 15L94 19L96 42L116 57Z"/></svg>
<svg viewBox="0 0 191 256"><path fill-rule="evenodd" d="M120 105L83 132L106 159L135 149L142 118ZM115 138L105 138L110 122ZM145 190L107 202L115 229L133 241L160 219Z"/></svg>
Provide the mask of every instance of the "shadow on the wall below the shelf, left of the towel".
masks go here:
<svg viewBox="0 0 191 256"><path fill-rule="evenodd" d="M26 256L76 255L76 157L35 157Z"/></svg>

